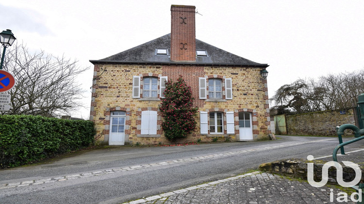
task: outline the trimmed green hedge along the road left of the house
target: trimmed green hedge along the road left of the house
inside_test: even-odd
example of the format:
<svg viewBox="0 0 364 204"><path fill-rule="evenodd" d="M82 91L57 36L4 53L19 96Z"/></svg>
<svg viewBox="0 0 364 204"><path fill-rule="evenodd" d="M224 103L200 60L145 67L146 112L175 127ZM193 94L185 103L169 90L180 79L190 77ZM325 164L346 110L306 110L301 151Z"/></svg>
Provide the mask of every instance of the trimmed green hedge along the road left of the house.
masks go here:
<svg viewBox="0 0 364 204"><path fill-rule="evenodd" d="M88 120L0 116L0 169L88 147L94 136Z"/></svg>

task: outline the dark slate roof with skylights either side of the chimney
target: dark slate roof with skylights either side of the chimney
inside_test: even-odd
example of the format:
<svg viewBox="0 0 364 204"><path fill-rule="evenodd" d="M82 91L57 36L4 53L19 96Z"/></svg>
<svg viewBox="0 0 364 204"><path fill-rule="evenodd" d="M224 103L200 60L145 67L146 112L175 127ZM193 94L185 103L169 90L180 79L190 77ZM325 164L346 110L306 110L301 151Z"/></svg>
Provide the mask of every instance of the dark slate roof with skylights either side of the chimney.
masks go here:
<svg viewBox="0 0 364 204"><path fill-rule="evenodd" d="M151 40L142 45L114 54L100 60L90 60L92 64L199 64L206 66L247 66L268 67L239 57L196 39L196 50L206 50L208 56L197 56L196 62L172 62L170 60L171 34ZM156 48L167 48L167 55L157 55Z"/></svg>

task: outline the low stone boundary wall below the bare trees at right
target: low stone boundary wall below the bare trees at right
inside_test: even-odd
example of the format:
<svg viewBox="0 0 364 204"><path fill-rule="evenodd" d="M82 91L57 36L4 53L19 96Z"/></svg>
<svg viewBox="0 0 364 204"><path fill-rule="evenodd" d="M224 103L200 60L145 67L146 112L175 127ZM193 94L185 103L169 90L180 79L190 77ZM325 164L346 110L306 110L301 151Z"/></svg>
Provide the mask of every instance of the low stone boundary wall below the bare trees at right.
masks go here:
<svg viewBox="0 0 364 204"><path fill-rule="evenodd" d="M353 109L340 114L340 111L324 111L286 116L288 135L337 136L336 126L355 124ZM346 130L344 135L352 135Z"/></svg>

